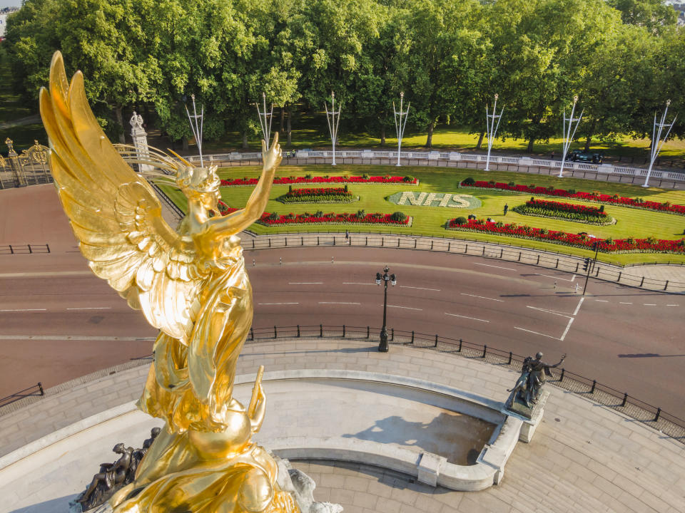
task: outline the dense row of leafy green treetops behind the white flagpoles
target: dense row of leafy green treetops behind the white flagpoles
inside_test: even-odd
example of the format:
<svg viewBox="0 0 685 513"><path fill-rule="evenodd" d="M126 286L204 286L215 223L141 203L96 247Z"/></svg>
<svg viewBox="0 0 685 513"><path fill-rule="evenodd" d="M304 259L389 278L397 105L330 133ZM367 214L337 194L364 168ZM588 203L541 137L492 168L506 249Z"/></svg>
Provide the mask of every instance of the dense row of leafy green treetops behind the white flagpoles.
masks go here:
<svg viewBox="0 0 685 513"><path fill-rule="evenodd" d="M187 142L191 94L207 138L238 131L245 145L263 92L286 142L293 113L320 113L331 91L344 123L385 142L403 91L428 147L437 123L482 133L494 93L500 135L529 150L561 132L574 95L588 143L651 135L666 99L685 105L685 30L663 0L24 0L4 44L29 101L62 51L115 138L139 109Z"/></svg>

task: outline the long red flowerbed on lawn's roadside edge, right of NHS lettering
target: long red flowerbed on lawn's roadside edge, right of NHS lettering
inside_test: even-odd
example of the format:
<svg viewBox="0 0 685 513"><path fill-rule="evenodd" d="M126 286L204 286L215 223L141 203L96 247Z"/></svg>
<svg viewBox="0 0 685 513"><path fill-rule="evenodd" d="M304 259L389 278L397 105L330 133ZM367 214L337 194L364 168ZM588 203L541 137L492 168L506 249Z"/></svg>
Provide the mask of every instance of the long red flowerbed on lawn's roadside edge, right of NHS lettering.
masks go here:
<svg viewBox="0 0 685 513"><path fill-rule="evenodd" d="M599 251L604 253L685 253L685 239L657 240L652 237L647 239L597 239L588 237L585 233L555 232L544 228L518 226L516 223L484 222L481 219L467 220L463 217L450 219L447 222L447 229L534 239L586 249L594 249L594 244L598 242Z"/></svg>

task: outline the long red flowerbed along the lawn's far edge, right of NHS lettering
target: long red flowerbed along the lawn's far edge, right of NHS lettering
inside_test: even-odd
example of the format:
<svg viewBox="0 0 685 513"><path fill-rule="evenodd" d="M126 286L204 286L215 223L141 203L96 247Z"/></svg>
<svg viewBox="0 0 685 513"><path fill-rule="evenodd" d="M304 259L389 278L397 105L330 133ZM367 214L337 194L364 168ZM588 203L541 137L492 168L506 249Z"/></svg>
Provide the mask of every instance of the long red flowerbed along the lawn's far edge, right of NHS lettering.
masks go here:
<svg viewBox="0 0 685 513"><path fill-rule="evenodd" d="M659 203L645 201L642 198L629 198L619 195L604 195L599 191L594 192L578 192L573 189L554 189L554 187L536 187L535 185L517 185L514 182L484 182L467 178L462 180L459 185L464 189L497 189L507 190L512 192L521 192L524 194L537 194L547 196L572 197L583 199L584 201L592 201L598 203L618 204L621 207L631 207L646 210L656 210L659 212L666 212L667 214L685 215L685 205L671 204L669 202Z"/></svg>

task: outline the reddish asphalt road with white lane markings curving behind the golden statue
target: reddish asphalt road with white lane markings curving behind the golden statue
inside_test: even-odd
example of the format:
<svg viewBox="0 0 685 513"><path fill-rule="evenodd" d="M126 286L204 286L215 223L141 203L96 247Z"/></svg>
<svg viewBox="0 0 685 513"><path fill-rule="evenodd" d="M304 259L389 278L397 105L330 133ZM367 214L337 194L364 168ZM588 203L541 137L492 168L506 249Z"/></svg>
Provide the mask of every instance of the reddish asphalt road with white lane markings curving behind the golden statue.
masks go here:
<svg viewBox="0 0 685 513"><path fill-rule="evenodd" d="M19 272L17 260L1 265L18 257L0 261L0 397L151 353L155 331L84 269L78 253L34 257L45 263L29 272ZM389 328L521 355L543 351L550 363L567 353L568 371L685 418L683 296L591 280L583 297L575 290L582 292L584 278L574 274L397 249L248 251L245 261L255 327L380 327L383 293L375 274L388 264L397 274L388 290Z"/></svg>

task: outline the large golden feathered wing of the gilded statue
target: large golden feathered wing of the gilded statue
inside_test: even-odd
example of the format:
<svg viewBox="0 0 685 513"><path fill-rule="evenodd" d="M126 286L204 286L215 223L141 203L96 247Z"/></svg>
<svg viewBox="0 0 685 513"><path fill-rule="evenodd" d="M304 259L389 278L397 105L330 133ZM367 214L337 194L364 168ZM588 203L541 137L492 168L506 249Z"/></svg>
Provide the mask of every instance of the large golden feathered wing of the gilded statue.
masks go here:
<svg viewBox="0 0 685 513"><path fill-rule="evenodd" d="M155 328L187 343L208 276L193 241L164 221L152 187L123 161L93 115L76 72L68 84L61 53L41 89L51 171L81 253Z"/></svg>

